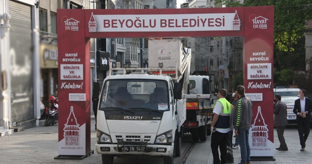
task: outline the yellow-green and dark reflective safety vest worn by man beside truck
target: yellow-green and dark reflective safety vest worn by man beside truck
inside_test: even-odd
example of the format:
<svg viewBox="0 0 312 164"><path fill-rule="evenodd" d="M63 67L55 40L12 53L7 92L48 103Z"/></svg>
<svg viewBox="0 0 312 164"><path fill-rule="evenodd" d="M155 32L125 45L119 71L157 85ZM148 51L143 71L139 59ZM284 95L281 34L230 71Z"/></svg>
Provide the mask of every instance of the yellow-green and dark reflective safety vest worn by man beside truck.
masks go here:
<svg viewBox="0 0 312 164"><path fill-rule="evenodd" d="M219 99L216 103L221 105L221 112L219 114L218 120L215 123L215 128L230 129L230 114L232 110L231 103L228 102L225 98Z"/></svg>

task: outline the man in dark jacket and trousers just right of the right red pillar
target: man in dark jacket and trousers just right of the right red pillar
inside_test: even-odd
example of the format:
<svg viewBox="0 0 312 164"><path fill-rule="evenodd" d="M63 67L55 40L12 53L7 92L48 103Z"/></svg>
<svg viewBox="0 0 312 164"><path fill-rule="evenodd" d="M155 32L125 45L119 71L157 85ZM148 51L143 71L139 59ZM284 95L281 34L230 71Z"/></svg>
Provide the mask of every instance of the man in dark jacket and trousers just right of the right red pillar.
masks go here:
<svg viewBox="0 0 312 164"><path fill-rule="evenodd" d="M284 138L285 126L288 125L287 121L287 105L285 102L281 102L281 95L275 95L274 102L274 126L276 127L277 138L279 141L279 147L276 148L279 151L288 151L287 144Z"/></svg>

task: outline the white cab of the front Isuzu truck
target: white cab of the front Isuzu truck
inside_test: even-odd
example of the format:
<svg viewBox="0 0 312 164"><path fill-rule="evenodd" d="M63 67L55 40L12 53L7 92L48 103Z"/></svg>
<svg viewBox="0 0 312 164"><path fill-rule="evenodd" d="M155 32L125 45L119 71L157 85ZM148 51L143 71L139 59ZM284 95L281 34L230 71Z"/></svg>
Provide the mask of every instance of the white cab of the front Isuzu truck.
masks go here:
<svg viewBox="0 0 312 164"><path fill-rule="evenodd" d="M176 106L183 105L174 98L171 78L147 74L109 76L101 93L96 149L103 163L110 164L114 156L132 154L162 156L166 164L171 164Z"/></svg>

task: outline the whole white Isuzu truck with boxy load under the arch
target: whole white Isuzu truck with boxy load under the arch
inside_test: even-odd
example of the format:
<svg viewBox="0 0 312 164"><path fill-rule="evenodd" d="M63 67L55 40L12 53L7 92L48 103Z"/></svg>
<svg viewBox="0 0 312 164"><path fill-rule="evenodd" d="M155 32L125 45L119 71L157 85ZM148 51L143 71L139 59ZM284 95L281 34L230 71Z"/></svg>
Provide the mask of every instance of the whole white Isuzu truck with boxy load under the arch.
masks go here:
<svg viewBox="0 0 312 164"><path fill-rule="evenodd" d="M100 94L93 93L99 94L96 151L103 164L115 156L159 156L173 164L181 154L191 52L178 39L148 44L149 68L110 68Z"/></svg>

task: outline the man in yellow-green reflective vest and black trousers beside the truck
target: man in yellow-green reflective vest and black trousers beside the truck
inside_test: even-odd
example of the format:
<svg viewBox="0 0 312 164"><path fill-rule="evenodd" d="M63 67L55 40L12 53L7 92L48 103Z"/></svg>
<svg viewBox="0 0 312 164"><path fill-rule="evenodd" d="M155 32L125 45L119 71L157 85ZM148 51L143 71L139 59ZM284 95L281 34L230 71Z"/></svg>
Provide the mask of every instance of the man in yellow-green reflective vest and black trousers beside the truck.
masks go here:
<svg viewBox="0 0 312 164"><path fill-rule="evenodd" d="M218 92L219 100L214 104L214 116L211 123L211 132L213 132L211 135L211 150L214 164L227 163L227 137L230 131L232 105L225 99L226 95L226 90L220 89ZM220 158L218 147L220 147Z"/></svg>

